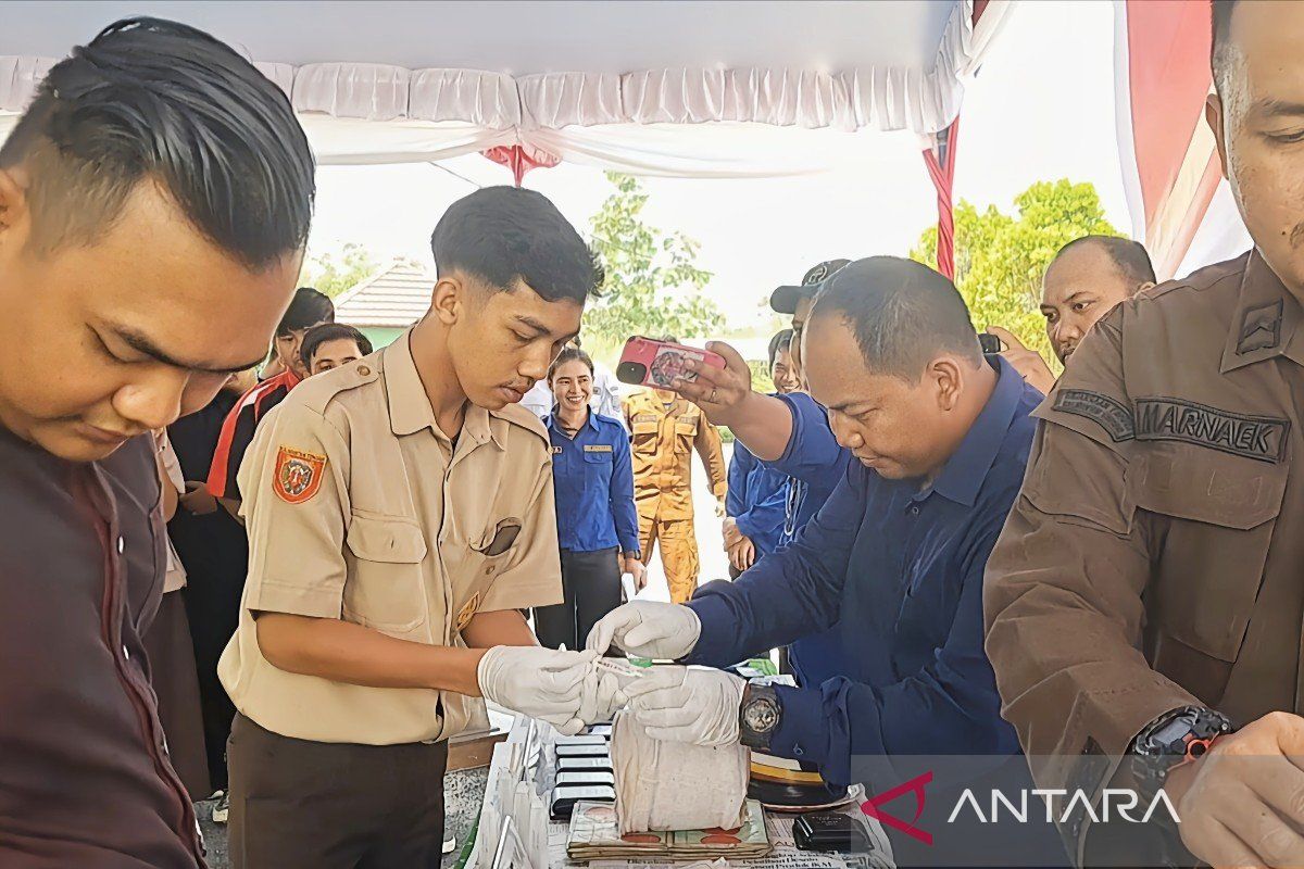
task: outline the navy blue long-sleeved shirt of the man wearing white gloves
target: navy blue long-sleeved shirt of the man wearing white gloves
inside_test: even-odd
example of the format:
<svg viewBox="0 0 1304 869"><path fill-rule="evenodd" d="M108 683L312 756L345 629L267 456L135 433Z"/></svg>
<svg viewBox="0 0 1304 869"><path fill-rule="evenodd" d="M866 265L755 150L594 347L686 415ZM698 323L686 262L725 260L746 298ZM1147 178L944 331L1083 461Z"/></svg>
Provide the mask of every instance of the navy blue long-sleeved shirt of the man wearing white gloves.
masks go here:
<svg viewBox="0 0 1304 869"><path fill-rule="evenodd" d="M1004 360L934 485L853 463L802 534L687 605L687 663L728 666L837 623L845 655L819 685L780 687L769 750L846 784L858 754L1018 752L983 653L982 578L1024 477L1041 401Z"/></svg>

